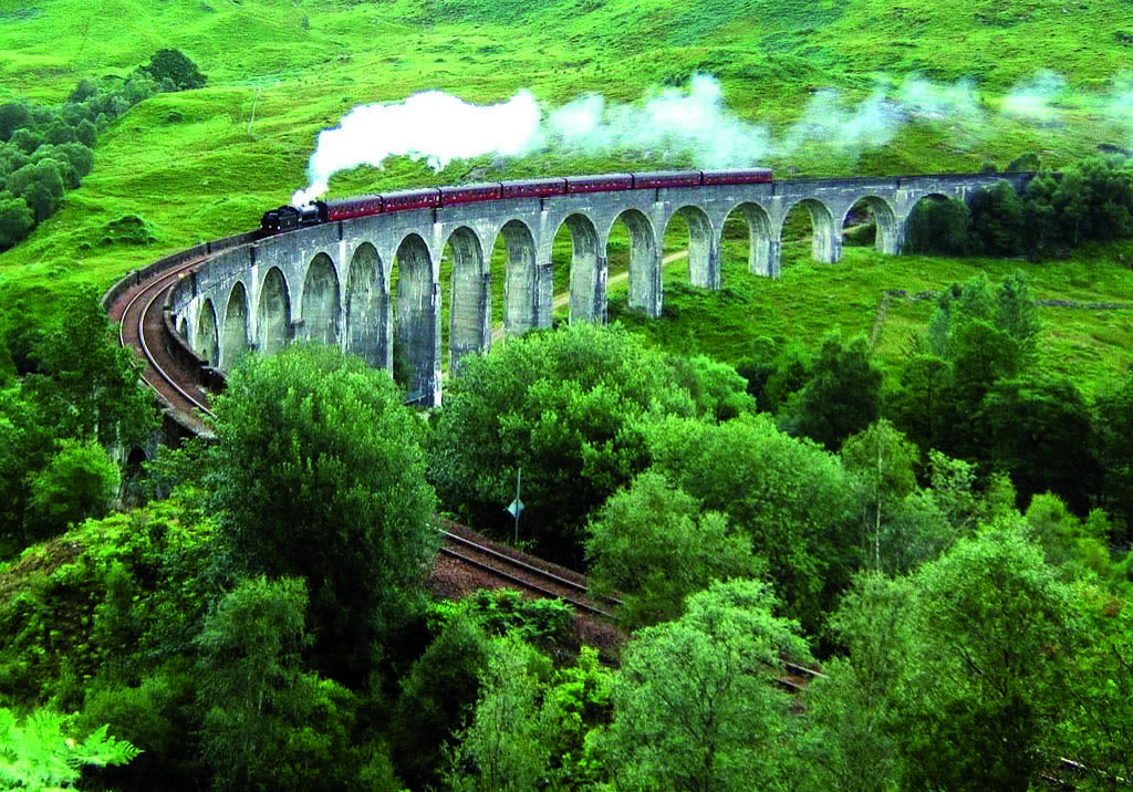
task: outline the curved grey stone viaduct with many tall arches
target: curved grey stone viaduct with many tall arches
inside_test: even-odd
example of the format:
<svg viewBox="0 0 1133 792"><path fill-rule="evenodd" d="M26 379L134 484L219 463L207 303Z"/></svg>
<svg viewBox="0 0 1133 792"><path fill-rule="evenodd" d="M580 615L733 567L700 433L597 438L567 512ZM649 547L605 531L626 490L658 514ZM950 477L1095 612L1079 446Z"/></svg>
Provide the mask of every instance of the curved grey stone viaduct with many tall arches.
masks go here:
<svg viewBox="0 0 1133 792"><path fill-rule="evenodd" d="M662 309L662 240L681 215L689 229L689 279L721 287L724 222L748 227L749 270L780 273L787 213L807 210L816 261L842 255L842 228L864 201L877 221L877 249L897 254L913 207L927 197L966 198L1000 178L1021 188L1030 174L942 174L787 180L619 190L504 199L377 214L267 237L222 253L185 278L171 308L178 332L216 368L249 350L271 352L292 339L317 340L392 369L404 349L409 399L440 404L442 303L449 301L450 367L492 342L489 259L503 235L505 332L551 325L552 245L562 227L572 242L570 321L606 318L606 246L617 221L630 238L629 304ZM441 282L445 248L451 282ZM402 346L403 344L403 346Z"/></svg>

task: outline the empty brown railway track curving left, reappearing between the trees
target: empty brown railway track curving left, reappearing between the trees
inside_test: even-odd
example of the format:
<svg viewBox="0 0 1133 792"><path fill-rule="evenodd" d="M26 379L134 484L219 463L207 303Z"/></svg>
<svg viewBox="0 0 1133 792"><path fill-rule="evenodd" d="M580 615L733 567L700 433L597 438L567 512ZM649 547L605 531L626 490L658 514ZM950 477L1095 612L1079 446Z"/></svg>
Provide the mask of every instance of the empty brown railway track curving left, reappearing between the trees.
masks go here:
<svg viewBox="0 0 1133 792"><path fill-rule="evenodd" d="M181 344L171 338L165 321L165 301L169 291L180 279L208 259L208 254L182 258L174 256L168 266L154 265L143 272L127 275L105 299L111 321L119 323L118 340L123 348L133 348L143 364L142 378L157 395L173 420L191 434L207 434L205 418L211 393L202 384L202 366L186 363L184 351L176 355L172 348ZM526 556L510 548L493 545L471 530L449 523L442 529L441 555L486 576L495 585L510 586L537 597L560 598L580 613L612 619L611 610L617 599L602 603L589 596L586 578L565 569L551 567L538 559Z"/></svg>

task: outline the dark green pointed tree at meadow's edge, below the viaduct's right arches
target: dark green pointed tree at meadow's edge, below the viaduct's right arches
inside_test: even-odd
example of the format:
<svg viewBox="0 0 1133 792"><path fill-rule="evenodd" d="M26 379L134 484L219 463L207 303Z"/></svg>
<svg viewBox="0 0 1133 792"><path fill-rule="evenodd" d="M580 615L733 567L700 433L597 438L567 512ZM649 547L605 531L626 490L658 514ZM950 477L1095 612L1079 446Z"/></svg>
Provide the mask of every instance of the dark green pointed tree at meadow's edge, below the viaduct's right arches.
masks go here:
<svg viewBox="0 0 1133 792"><path fill-rule="evenodd" d="M810 380L783 426L836 451L852 434L877 420L881 369L872 361L864 335L842 343L838 332L826 335Z"/></svg>

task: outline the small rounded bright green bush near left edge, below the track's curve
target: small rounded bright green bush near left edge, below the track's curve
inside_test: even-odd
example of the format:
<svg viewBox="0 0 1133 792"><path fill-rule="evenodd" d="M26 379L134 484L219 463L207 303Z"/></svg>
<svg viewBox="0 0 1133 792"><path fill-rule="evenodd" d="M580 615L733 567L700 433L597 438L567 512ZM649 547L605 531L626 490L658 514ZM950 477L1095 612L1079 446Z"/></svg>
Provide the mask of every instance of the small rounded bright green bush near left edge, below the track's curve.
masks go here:
<svg viewBox="0 0 1133 792"><path fill-rule="evenodd" d="M121 474L95 440L62 440L42 470L28 474L24 517L28 543L61 534L68 525L107 513Z"/></svg>

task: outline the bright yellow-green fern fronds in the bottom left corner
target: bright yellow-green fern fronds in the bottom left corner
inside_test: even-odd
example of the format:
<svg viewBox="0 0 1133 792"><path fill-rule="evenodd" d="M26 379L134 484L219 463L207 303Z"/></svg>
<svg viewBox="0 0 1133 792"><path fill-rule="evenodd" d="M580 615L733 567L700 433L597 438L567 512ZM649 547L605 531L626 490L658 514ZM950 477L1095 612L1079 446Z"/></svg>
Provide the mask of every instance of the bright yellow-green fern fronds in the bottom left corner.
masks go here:
<svg viewBox="0 0 1133 792"><path fill-rule="evenodd" d="M84 740L65 736L67 717L36 709L23 724L0 708L0 783L8 789L56 792L71 786L85 766L123 765L138 755L102 726Z"/></svg>

